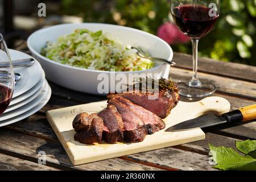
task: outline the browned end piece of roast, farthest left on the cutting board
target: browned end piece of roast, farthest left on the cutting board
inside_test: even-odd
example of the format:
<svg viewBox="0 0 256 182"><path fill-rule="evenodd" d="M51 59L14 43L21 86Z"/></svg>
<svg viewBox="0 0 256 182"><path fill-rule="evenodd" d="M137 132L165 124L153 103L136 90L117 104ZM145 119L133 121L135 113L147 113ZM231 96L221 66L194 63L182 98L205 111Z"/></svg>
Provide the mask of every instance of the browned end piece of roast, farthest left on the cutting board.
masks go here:
<svg viewBox="0 0 256 182"><path fill-rule="evenodd" d="M79 126L79 131L75 134L74 139L79 141L80 143L85 144L100 142L102 138L104 122L100 117L98 117L97 114L90 114L89 117L88 115L89 114L87 113L81 113L77 115L77 118L80 118L80 121L85 121L86 124L85 122L81 122L82 124L75 125L75 130L77 130L77 126ZM73 124L77 123L75 119L73 121Z"/></svg>

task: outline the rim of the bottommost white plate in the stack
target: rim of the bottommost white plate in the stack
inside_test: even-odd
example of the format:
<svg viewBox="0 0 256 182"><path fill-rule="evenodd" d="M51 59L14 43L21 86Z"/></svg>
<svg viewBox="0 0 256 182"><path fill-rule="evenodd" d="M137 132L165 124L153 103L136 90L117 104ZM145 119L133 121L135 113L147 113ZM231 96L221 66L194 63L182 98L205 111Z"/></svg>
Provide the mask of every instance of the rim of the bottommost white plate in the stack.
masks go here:
<svg viewBox="0 0 256 182"><path fill-rule="evenodd" d="M40 101L38 103L38 105L34 106L32 109L30 110L27 110L25 113L23 114L20 114L16 117L13 117L13 118L10 118L10 119L6 119L4 121L0 121L0 127L2 126L6 126L6 125L10 125L11 123L15 123L15 122L18 122L22 119L25 119L27 117L30 117L30 115L32 114L35 114L37 111L39 111L40 109L42 109L42 107L44 105L47 104L47 102L49 101L49 98L51 97L51 93L52 93L52 90L51 90L51 87L48 86L48 90L47 90L47 94L46 96L43 98L42 101Z"/></svg>

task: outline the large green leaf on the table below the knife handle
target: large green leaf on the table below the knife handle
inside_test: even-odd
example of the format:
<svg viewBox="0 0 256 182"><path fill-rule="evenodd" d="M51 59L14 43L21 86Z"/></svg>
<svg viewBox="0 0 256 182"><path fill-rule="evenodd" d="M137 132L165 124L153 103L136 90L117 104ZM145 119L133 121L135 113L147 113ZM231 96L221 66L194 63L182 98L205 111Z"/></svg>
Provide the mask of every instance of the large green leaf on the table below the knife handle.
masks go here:
<svg viewBox="0 0 256 182"><path fill-rule="evenodd" d="M242 156L233 148L215 147L209 143L210 152L213 156L216 166L214 168L223 170L256 170L256 159L251 156Z"/></svg>

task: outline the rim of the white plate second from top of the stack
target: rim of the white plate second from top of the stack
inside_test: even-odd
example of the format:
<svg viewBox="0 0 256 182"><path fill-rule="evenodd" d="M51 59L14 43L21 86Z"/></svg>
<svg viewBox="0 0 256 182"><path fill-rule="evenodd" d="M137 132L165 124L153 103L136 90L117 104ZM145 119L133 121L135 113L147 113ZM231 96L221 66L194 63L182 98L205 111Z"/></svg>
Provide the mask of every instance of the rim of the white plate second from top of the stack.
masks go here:
<svg viewBox="0 0 256 182"><path fill-rule="evenodd" d="M27 92L21 94L20 96L18 97L15 97L15 98L12 98L11 99L11 102L9 104L9 106L12 106L14 104L17 104L19 102L22 102L24 100L26 100L26 98L28 97L31 97L34 93L38 92L38 90L40 88L42 88L43 84L44 84L44 80L45 78L42 77L37 83L35 86L33 86L30 90L28 90Z"/></svg>

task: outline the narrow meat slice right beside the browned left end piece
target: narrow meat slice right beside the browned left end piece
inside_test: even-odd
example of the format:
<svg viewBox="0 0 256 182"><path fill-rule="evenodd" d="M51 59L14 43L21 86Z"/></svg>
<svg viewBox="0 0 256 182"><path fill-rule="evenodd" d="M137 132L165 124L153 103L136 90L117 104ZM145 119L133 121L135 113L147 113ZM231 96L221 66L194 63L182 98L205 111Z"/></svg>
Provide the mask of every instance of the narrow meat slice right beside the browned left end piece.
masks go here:
<svg viewBox="0 0 256 182"><path fill-rule="evenodd" d="M106 109L100 111L98 116L104 121L102 138L106 143L115 143L123 140L123 121L117 107L108 104Z"/></svg>

